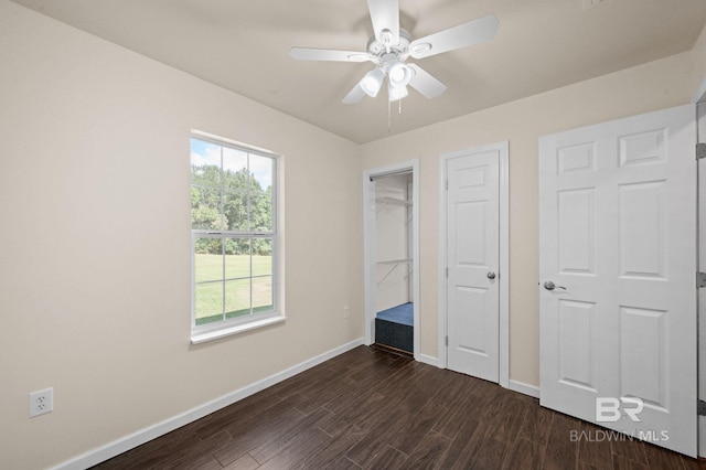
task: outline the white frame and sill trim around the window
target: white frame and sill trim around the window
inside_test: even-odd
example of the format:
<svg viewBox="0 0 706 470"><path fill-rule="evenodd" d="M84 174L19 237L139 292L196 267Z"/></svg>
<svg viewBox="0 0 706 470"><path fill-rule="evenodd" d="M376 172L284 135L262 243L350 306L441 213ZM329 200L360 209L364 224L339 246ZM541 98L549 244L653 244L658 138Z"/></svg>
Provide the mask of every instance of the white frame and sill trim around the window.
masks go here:
<svg viewBox="0 0 706 470"><path fill-rule="evenodd" d="M285 314L285 244L284 244L284 213L285 213L285 161L280 154L277 154L270 150L266 150L259 147L245 145L235 140L214 136L199 130L191 130L190 138L199 140L213 141L216 145L225 145L227 147L238 147L243 150L253 153L259 153L265 157L270 157L275 160L275 188L274 188L274 201L275 220L272 221L274 233L272 238L272 305L275 310L266 313L258 313L255 318L237 319L223 321L218 323L210 323L206 325L195 325L194 319L194 250L193 250L193 236L192 229L192 244L191 244L191 344L200 344L207 341L218 340L222 338L235 335L238 333L245 333L260 328L270 327L278 323L284 323L287 320ZM190 163L191 164L191 163ZM191 185L191 183L190 183ZM191 217L190 217L191 218Z"/></svg>

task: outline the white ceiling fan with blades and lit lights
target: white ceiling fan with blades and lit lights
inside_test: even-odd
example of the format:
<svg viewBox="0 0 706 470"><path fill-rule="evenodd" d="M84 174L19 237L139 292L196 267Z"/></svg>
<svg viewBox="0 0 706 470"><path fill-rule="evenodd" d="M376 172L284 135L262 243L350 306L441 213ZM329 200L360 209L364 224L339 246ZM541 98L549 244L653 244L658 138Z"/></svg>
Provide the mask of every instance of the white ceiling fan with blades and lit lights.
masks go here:
<svg viewBox="0 0 706 470"><path fill-rule="evenodd" d="M399 26L399 0L367 0L367 8L375 34L367 42L365 52L314 47L292 47L289 51L289 55L299 61L374 63L375 68L365 74L343 98L343 103L349 105L359 103L365 95L377 96L385 76L391 102L407 96L407 85L427 98L436 98L446 92L446 85L419 65L405 64L405 61L409 57L424 58L492 41L499 28L498 18L488 14L413 40L409 32Z"/></svg>

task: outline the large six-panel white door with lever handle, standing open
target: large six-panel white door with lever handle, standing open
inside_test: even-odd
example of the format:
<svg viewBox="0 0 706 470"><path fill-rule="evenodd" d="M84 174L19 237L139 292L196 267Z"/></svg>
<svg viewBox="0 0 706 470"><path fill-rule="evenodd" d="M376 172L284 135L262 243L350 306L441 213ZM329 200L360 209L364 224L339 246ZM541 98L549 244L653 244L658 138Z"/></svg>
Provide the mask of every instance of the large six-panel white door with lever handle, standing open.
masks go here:
<svg viewBox="0 0 706 470"><path fill-rule="evenodd" d="M541 404L689 456L694 117L684 106L539 139Z"/></svg>

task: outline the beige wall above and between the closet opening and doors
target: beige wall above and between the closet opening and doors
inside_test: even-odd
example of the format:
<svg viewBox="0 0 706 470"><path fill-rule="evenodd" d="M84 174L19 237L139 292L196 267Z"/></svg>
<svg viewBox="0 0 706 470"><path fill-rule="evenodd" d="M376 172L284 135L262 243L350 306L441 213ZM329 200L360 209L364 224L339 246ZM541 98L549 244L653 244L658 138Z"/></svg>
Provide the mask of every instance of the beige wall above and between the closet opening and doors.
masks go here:
<svg viewBox="0 0 706 470"><path fill-rule="evenodd" d="M440 154L510 141L510 378L538 385L537 138L686 104L697 85L684 53L363 146L363 169L420 160L421 353L438 355Z"/></svg>

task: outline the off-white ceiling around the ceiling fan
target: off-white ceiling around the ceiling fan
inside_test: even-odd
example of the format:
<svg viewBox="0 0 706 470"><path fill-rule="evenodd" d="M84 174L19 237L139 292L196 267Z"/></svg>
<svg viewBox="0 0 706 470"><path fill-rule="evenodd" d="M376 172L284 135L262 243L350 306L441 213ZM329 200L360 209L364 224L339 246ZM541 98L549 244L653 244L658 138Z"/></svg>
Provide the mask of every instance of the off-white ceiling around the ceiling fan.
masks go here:
<svg viewBox="0 0 706 470"><path fill-rule="evenodd" d="M14 0L359 143L689 51L704 0L399 0L413 39L494 13L491 43L418 61L448 89L341 103L371 63L300 62L291 46L364 51L365 0ZM600 0L592 0L593 2Z"/></svg>

